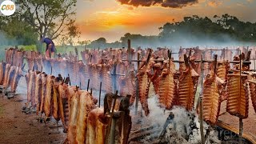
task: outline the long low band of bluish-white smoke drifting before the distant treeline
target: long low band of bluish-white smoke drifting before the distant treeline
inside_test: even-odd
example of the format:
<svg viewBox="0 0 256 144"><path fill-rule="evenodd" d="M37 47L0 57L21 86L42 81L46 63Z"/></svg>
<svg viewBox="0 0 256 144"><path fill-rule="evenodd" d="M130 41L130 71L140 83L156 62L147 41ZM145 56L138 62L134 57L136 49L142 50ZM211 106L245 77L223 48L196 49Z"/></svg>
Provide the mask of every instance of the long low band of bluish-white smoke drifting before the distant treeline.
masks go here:
<svg viewBox="0 0 256 144"><path fill-rule="evenodd" d="M139 35L139 34L131 34L131 35ZM174 37L170 38L161 38L158 36L139 36L133 38L132 36L129 38L124 38L123 42L112 42L112 43L104 43L104 42L92 42L90 45L86 47L90 48L101 48L104 49L106 47L112 48L121 48L127 47L127 39L131 40L131 46L133 48L137 48L141 46L142 48L153 48L156 50L157 47L167 47L177 52L180 48L186 47L196 47L200 48L206 47L214 47L214 48L224 48L224 47L238 47L238 46L256 46L255 42L240 42L235 40L234 38L230 38L227 34L218 34L215 38L211 38L210 36L206 36L202 34L201 36L194 36L186 33L175 34Z"/></svg>

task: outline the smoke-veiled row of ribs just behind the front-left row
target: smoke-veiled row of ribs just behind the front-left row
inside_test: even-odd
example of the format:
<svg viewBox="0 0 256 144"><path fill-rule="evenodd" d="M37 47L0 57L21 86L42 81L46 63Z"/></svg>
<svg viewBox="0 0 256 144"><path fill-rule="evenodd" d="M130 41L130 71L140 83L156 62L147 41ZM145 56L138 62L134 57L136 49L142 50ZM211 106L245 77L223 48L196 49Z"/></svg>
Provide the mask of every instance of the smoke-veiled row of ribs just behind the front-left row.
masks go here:
<svg viewBox="0 0 256 144"><path fill-rule="evenodd" d="M116 54L116 53L114 53ZM134 70L134 66L128 66L127 62L122 62L106 57L105 60L99 59L98 62L82 62L77 61L75 58L44 58L41 54L34 54L34 52L27 57L29 70L43 70L46 74L58 75L61 74L64 77L70 77L72 85L78 85L82 89L86 89L88 80L90 79L90 88L94 90L99 89L100 82L102 82L102 90L106 92L112 92L114 89L113 83L120 83L121 78L117 78L116 81L112 78L114 65L116 65L116 74L126 74L129 70ZM121 52L120 54L121 55ZM111 55L112 56L112 55ZM120 79L120 80L119 80ZM122 78L123 79L123 78ZM117 90L121 91L120 86L116 85Z"/></svg>

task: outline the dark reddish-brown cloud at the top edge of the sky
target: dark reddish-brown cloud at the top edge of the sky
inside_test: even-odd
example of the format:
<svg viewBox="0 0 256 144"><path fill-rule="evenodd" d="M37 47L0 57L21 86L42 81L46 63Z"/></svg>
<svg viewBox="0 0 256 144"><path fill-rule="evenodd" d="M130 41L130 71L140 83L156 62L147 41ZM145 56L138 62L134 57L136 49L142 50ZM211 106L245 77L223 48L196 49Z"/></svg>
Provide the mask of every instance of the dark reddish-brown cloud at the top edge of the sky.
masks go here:
<svg viewBox="0 0 256 144"><path fill-rule="evenodd" d="M130 6L162 6L169 8L182 8L198 3L198 0L117 0L123 5Z"/></svg>

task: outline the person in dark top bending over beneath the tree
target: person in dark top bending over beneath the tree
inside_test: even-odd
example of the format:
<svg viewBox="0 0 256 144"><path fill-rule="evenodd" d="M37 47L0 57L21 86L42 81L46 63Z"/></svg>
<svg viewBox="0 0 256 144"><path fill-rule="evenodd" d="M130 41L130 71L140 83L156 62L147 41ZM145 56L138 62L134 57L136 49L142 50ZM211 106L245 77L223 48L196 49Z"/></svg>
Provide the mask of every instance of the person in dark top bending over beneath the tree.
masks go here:
<svg viewBox="0 0 256 144"><path fill-rule="evenodd" d="M54 42L50 38L43 38L42 36L40 42L46 43L46 58L54 58L56 53Z"/></svg>

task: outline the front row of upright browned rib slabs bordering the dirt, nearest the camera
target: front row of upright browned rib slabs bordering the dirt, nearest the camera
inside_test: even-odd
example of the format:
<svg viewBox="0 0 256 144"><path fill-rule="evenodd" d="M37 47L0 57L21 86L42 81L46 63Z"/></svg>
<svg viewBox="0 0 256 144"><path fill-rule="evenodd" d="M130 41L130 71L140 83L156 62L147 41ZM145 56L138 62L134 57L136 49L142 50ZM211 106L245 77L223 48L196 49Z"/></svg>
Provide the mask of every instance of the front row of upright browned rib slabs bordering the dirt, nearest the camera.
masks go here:
<svg viewBox="0 0 256 144"><path fill-rule="evenodd" d="M92 94L78 86L69 86L69 82L60 75L54 77L41 71L29 70L25 78L27 108L36 110L41 117L44 114L45 121L50 117L54 117L56 122L61 120L64 130L67 130L66 143L103 144L107 141L111 125L110 117L104 110L108 110L108 107L104 110L98 108L98 100ZM108 97L110 101L113 100L111 98ZM127 101L129 106L129 99ZM116 103L115 110L125 111L118 120L117 141L127 143L131 126L130 112L127 107L122 109L122 101Z"/></svg>

